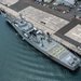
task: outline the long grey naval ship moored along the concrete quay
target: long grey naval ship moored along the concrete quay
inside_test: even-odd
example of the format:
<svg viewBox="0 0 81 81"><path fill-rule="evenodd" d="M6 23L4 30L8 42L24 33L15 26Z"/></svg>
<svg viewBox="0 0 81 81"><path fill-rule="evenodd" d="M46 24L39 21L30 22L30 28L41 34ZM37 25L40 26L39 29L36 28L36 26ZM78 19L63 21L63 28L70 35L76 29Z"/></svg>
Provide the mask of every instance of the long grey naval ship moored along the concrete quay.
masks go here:
<svg viewBox="0 0 81 81"><path fill-rule="evenodd" d="M22 15L18 17L1 11L5 21L27 41L41 53L57 62L64 67L76 70L80 66L80 58L72 54L60 43L51 38L50 32L36 28L30 22L27 22Z"/></svg>

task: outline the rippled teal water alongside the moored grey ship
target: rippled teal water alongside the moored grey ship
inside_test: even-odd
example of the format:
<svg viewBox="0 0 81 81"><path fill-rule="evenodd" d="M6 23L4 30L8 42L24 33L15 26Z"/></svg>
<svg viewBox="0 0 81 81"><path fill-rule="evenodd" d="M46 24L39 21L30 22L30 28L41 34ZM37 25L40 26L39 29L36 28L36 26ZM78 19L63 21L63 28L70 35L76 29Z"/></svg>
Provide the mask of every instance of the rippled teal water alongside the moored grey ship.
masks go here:
<svg viewBox="0 0 81 81"><path fill-rule="evenodd" d="M0 15L0 81L81 81L81 68L70 71L51 60Z"/></svg>

